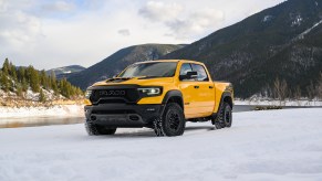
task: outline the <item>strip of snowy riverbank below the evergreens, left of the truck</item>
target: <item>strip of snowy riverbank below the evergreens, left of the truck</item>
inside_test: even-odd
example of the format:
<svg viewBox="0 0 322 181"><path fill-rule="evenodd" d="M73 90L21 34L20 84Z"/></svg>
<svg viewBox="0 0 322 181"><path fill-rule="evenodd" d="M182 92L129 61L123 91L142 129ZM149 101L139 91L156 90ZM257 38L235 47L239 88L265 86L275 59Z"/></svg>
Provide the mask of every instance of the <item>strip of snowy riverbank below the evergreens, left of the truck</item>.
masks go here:
<svg viewBox="0 0 322 181"><path fill-rule="evenodd" d="M61 105L53 107L0 107L1 118L8 117L52 117L52 116L67 116L82 117L84 116L83 105Z"/></svg>

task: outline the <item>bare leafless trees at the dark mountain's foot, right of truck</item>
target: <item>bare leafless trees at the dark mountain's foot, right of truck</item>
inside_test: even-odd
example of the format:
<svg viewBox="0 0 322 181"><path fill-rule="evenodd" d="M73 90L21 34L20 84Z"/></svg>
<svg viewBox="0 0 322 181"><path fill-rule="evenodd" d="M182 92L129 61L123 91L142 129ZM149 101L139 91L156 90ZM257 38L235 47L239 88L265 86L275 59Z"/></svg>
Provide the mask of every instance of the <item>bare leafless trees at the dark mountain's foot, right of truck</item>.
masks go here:
<svg viewBox="0 0 322 181"><path fill-rule="evenodd" d="M322 73L316 82L310 82L305 87L291 87L285 79L277 77L271 86L266 86L260 93L262 97L271 97L278 100L307 98L309 100L322 100Z"/></svg>

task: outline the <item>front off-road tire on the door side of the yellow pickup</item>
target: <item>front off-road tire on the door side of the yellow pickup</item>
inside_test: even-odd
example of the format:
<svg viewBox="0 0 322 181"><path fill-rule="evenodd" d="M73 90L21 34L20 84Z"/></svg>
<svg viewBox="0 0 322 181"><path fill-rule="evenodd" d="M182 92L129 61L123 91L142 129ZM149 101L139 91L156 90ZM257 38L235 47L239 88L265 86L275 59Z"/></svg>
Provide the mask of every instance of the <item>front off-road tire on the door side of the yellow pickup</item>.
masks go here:
<svg viewBox="0 0 322 181"><path fill-rule="evenodd" d="M166 105L164 114L154 120L154 131L158 137L184 135L186 119L183 108L176 103Z"/></svg>

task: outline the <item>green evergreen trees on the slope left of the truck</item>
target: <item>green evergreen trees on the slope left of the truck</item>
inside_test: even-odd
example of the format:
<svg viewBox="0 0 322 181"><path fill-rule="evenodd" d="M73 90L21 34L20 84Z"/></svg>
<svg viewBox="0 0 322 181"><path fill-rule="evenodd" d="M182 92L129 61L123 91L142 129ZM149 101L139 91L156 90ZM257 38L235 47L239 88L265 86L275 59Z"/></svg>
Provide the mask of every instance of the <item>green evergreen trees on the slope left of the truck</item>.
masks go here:
<svg viewBox="0 0 322 181"><path fill-rule="evenodd" d="M45 71L38 71L33 66L17 67L6 58L0 71L0 87L6 93L12 92L22 97L29 88L39 94L39 99L45 102L46 96L43 89L53 92L55 96L64 96L69 99L77 98L83 92L69 83L65 78L56 79L52 72L48 75Z"/></svg>

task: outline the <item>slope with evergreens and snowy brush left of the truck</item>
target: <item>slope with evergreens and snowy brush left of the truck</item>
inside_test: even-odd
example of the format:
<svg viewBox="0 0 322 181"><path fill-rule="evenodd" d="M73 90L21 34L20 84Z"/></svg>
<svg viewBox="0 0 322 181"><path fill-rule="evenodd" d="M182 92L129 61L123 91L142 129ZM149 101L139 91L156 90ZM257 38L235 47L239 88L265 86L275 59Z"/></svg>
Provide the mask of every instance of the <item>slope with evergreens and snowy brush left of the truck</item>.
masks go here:
<svg viewBox="0 0 322 181"><path fill-rule="evenodd" d="M43 106L77 100L83 92L33 66L17 67L8 58L0 70L0 107Z"/></svg>

